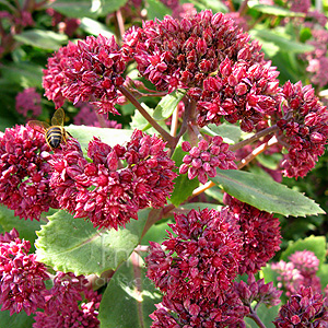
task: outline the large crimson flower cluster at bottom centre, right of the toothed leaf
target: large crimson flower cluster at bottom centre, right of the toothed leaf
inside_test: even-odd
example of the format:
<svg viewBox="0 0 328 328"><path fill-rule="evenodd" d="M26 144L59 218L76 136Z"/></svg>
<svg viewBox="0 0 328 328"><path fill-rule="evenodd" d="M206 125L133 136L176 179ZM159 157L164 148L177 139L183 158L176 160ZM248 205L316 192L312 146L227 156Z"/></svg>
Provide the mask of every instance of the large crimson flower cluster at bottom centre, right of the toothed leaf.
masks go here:
<svg viewBox="0 0 328 328"><path fill-rule="evenodd" d="M169 225L175 235L167 232L162 245L150 242L145 258L147 276L164 293L152 327L216 327L241 320L247 309L232 291L243 259L236 219L227 209L204 209L175 214L175 220Z"/></svg>

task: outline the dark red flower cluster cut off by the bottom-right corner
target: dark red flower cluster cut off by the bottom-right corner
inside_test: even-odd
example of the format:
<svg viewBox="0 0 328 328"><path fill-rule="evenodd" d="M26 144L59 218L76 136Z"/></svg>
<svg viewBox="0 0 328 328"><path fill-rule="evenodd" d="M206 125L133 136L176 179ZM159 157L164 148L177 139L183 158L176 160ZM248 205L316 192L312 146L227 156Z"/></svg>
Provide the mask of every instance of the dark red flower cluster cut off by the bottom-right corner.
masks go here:
<svg viewBox="0 0 328 328"><path fill-rule="evenodd" d="M328 298L315 294L311 288L301 288L279 311L273 321L277 328L328 327Z"/></svg>

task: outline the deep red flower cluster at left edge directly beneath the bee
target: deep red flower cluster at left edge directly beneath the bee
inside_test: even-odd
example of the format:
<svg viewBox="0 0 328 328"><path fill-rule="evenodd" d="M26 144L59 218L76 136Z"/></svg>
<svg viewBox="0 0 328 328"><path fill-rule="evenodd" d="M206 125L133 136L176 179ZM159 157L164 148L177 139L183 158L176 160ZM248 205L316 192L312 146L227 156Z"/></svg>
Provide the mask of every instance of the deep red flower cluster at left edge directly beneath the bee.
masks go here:
<svg viewBox="0 0 328 328"><path fill-rule="evenodd" d="M49 188L49 150L45 136L28 126L0 136L0 202L21 219L39 220L42 212L58 208Z"/></svg>

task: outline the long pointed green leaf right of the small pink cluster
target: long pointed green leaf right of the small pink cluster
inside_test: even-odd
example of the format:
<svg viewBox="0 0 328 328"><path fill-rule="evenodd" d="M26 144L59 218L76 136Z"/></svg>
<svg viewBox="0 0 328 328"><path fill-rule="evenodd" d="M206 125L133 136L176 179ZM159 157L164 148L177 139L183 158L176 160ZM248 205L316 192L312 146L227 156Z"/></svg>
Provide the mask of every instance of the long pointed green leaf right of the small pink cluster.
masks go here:
<svg viewBox="0 0 328 328"><path fill-rule="evenodd" d="M312 199L263 176L218 168L216 176L210 179L222 185L231 196L261 211L293 216L325 213Z"/></svg>

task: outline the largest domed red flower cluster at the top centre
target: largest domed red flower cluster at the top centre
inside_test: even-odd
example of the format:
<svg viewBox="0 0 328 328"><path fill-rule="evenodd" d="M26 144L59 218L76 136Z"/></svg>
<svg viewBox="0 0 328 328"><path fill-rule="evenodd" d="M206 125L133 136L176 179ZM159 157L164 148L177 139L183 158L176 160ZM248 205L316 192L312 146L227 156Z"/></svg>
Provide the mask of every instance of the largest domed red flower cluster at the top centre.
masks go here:
<svg viewBox="0 0 328 328"><path fill-rule="evenodd" d="M165 16L125 34L125 54L157 90L188 89L198 124L242 120L251 131L274 110L279 72L263 60L260 46L222 13L202 11L181 21Z"/></svg>

